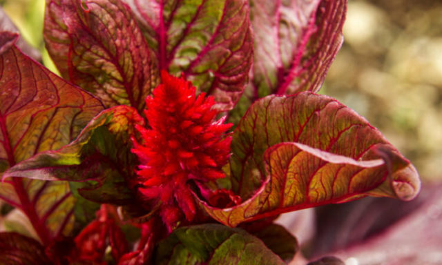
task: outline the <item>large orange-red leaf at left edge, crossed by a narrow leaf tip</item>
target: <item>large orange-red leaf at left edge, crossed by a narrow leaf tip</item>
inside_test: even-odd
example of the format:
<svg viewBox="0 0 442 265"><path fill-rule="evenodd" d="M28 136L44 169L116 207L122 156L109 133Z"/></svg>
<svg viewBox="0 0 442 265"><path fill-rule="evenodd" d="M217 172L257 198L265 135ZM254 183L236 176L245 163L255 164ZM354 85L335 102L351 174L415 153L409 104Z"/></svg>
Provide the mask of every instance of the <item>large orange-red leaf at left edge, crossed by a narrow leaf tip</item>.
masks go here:
<svg viewBox="0 0 442 265"><path fill-rule="evenodd" d="M68 144L102 110L87 92L23 55L16 36L0 34L0 173ZM6 176L3 176L3 179ZM4 179L0 199L21 208L44 244L72 228L73 197L64 181Z"/></svg>

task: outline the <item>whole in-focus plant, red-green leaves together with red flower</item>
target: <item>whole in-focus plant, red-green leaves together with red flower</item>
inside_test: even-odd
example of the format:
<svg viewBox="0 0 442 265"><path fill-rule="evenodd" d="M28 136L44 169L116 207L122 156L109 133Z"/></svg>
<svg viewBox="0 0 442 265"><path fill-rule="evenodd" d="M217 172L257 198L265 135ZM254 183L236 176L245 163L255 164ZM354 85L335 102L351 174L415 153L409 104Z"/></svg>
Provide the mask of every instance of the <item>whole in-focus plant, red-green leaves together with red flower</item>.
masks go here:
<svg viewBox="0 0 442 265"><path fill-rule="evenodd" d="M284 264L298 246L272 224L280 213L413 199L410 161L315 94L346 7L46 0L44 40L63 79L1 32L0 199L37 240L0 233L20 254L0 259Z"/></svg>

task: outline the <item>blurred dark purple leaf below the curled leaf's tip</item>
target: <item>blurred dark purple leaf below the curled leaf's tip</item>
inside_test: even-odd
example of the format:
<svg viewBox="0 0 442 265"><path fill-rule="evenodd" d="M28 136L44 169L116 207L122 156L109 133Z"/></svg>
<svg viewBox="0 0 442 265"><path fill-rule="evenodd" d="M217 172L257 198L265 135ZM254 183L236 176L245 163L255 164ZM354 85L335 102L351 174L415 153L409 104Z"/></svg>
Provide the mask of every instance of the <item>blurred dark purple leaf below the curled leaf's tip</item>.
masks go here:
<svg viewBox="0 0 442 265"><path fill-rule="evenodd" d="M381 236L427 201L425 191L421 190L412 202L367 197L316 208L316 236L312 240L315 247L311 256L318 257Z"/></svg>

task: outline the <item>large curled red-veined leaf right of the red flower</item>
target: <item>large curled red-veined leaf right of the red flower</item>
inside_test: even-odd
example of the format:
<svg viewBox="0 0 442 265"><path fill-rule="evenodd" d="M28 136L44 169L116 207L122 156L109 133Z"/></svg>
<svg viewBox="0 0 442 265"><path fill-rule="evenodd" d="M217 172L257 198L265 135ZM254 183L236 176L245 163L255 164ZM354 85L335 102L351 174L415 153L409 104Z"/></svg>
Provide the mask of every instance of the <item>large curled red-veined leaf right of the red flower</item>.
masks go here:
<svg viewBox="0 0 442 265"><path fill-rule="evenodd" d="M243 203L220 209L201 202L229 226L366 195L408 200L420 188L414 166L376 128L310 92L257 101L231 147L232 190Z"/></svg>

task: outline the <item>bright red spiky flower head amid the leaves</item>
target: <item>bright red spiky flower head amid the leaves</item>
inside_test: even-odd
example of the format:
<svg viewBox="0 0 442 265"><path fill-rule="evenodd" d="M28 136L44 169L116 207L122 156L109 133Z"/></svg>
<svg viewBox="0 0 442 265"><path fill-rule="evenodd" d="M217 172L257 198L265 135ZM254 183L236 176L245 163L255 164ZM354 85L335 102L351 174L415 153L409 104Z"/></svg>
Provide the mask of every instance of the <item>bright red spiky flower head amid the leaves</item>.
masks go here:
<svg viewBox="0 0 442 265"><path fill-rule="evenodd" d="M195 216L195 202L189 179L206 182L224 177L222 166L230 155L231 137L226 131L231 124L215 120L213 97L184 78L162 72L162 84L146 98L150 128L137 126L142 141L133 139L132 152L139 160L137 182L148 200L161 202L160 215L169 229L182 219Z"/></svg>

